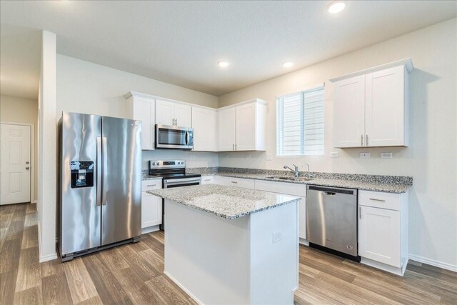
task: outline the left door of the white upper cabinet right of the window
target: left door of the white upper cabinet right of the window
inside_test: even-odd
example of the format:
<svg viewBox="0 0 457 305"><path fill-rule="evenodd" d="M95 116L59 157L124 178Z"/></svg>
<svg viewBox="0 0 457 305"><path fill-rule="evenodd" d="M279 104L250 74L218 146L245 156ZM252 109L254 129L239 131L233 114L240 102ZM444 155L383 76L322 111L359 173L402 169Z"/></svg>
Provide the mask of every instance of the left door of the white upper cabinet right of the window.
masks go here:
<svg viewBox="0 0 457 305"><path fill-rule="evenodd" d="M335 147L360 147L365 143L365 76L335 83L333 139Z"/></svg>

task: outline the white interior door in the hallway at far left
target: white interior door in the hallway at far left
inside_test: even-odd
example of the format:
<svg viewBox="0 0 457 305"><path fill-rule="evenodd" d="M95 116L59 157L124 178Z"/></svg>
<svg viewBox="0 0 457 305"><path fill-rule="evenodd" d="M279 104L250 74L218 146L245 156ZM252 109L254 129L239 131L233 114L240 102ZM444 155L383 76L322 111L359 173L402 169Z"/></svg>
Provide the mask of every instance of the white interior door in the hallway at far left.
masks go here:
<svg viewBox="0 0 457 305"><path fill-rule="evenodd" d="M0 204L30 202L31 126L0 126Z"/></svg>

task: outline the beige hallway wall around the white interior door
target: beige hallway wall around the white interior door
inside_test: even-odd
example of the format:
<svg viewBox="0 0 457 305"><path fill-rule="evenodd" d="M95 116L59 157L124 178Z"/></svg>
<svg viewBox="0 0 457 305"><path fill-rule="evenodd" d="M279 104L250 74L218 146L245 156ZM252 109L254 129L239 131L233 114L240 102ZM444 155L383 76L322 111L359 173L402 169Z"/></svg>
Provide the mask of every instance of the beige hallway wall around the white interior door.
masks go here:
<svg viewBox="0 0 457 305"><path fill-rule="evenodd" d="M31 201L38 199L38 100L14 96L0 96L0 121L34 124L34 194Z"/></svg>

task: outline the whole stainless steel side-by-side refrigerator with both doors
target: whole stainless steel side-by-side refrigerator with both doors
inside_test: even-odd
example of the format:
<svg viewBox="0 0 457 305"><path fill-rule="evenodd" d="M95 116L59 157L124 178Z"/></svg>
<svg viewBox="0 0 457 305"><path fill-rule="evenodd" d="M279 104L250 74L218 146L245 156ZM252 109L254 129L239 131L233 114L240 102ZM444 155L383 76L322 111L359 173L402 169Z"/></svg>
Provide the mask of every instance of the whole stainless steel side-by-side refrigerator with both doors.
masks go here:
<svg viewBox="0 0 457 305"><path fill-rule="evenodd" d="M64 112L59 121L62 261L141 235L141 121Z"/></svg>

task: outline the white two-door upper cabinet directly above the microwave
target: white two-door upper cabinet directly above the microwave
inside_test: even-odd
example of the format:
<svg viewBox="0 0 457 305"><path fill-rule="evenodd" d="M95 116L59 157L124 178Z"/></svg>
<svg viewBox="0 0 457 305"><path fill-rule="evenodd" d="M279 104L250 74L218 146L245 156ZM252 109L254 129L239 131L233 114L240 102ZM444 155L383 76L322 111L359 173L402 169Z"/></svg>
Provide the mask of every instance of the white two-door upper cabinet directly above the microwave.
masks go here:
<svg viewBox="0 0 457 305"><path fill-rule="evenodd" d="M191 127L191 106L156 99L156 124Z"/></svg>

